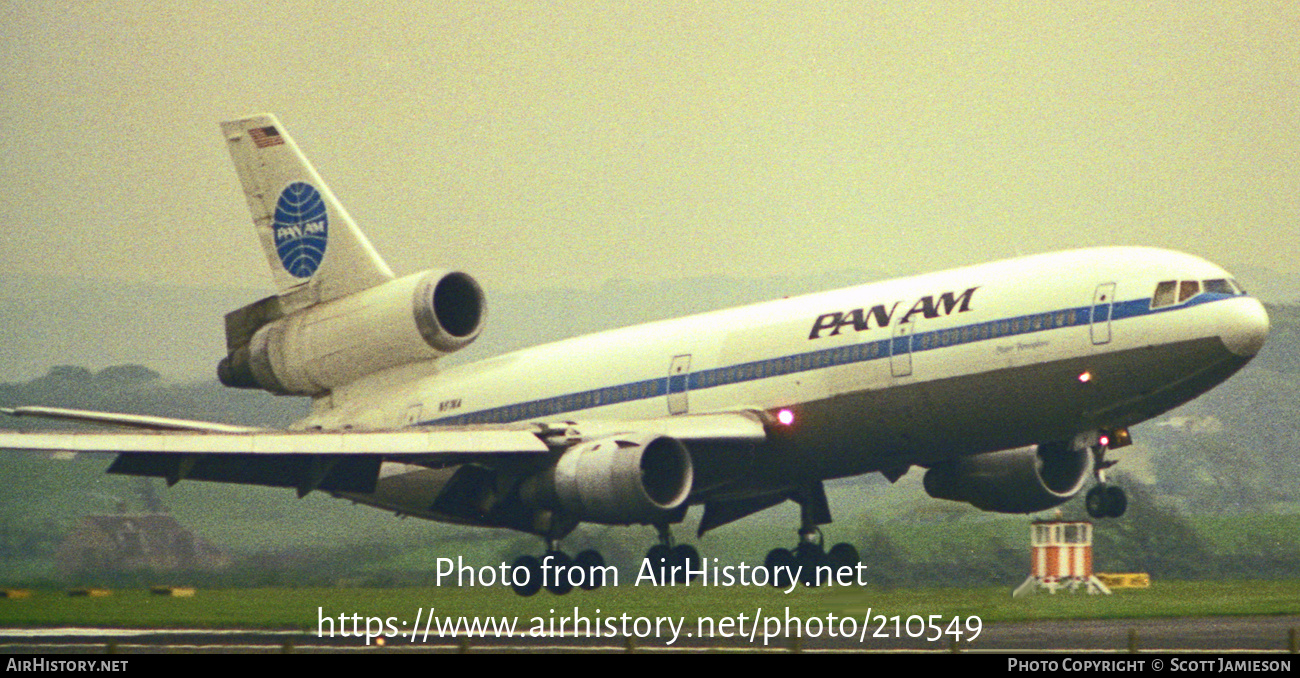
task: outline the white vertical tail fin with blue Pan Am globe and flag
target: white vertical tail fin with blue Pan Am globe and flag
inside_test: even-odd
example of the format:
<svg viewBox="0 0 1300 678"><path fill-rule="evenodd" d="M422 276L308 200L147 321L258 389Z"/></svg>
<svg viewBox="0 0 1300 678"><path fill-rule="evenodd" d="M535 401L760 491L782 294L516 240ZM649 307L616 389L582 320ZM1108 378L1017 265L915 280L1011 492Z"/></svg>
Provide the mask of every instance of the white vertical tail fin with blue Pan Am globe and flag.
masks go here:
<svg viewBox="0 0 1300 678"><path fill-rule="evenodd" d="M282 296L309 305L393 279L274 116L222 122L221 132Z"/></svg>

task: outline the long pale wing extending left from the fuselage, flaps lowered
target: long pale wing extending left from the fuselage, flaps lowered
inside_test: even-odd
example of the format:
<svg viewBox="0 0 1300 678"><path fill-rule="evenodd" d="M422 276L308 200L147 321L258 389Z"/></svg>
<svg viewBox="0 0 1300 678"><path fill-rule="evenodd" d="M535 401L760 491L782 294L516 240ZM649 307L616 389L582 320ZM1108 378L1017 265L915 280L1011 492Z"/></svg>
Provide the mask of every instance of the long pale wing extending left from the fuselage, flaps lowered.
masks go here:
<svg viewBox="0 0 1300 678"><path fill-rule="evenodd" d="M35 409L38 408L14 408L4 412L26 416L35 414ZM48 414L51 408L43 409ZM380 464L384 461L430 468L469 461L491 464L506 458L533 458L541 464L552 452L580 443L640 433L701 443L760 443L767 438L762 417L751 412L645 421L564 421L364 431L266 431L226 425L203 429L200 426L204 422L187 420L64 412L75 416L56 418L135 427L144 426L146 421L172 422L174 426L131 433L0 433L0 448L114 452L118 457L108 468L108 473L166 478L169 484L195 479L295 487L299 496L312 490L373 492Z"/></svg>

